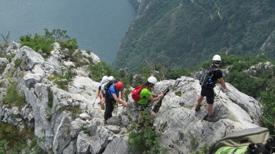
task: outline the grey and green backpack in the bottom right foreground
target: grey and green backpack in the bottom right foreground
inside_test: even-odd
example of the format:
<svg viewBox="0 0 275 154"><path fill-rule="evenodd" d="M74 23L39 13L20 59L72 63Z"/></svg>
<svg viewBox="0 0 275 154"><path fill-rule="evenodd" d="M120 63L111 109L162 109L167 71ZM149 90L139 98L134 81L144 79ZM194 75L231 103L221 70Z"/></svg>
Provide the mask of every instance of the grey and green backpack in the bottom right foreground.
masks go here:
<svg viewBox="0 0 275 154"><path fill-rule="evenodd" d="M208 154L272 154L274 140L268 129L257 127L233 132L217 141Z"/></svg>

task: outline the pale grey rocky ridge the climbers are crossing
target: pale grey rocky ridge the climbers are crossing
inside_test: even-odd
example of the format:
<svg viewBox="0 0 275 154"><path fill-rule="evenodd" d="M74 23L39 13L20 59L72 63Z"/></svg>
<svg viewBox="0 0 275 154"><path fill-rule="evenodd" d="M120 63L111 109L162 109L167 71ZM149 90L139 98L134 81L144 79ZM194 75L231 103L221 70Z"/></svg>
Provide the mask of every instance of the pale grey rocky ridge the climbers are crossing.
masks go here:
<svg viewBox="0 0 275 154"><path fill-rule="evenodd" d="M85 75L84 67L71 68L80 71L68 85L67 91L57 88L54 82L47 79L53 77L53 73L60 73L64 67L61 64L68 59L63 54L66 50L61 50L56 43L53 45L52 55L46 60L27 46L14 48L15 57L0 77L4 85L0 88L0 100L9 85L5 78L15 67L13 61L22 58L20 65L13 69L12 79L18 83L16 88L23 92L26 105L22 109L3 105L0 107L0 120L18 129L22 129L24 123L33 128L34 135L44 139L38 145L48 153L128 154L127 128L130 120L137 121L139 114L130 95L125 96L129 99L128 107L114 110L113 117L104 125L104 111L97 104L99 99L95 99L99 83ZM92 55L85 51L82 53ZM265 67L268 69L271 66L265 63ZM201 110L194 111L200 94L198 80L182 76L155 85L153 92L156 94L170 89L162 99L154 120L155 131L162 139L161 146L166 147L169 154L188 154L231 132L258 127L259 103L230 84L226 83L226 86L230 90L228 93L219 92L218 86L214 88L215 94L218 94L214 111L220 120L209 123L202 120L207 113L205 100ZM190 135L197 139L198 146L191 145Z"/></svg>

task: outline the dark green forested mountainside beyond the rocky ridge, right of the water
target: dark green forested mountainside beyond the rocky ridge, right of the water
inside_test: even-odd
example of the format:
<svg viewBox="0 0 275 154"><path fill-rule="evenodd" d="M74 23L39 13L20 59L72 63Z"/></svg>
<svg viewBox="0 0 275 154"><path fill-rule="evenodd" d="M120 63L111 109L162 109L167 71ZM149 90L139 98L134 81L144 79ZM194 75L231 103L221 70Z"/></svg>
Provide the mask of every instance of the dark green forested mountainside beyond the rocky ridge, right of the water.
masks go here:
<svg viewBox="0 0 275 154"><path fill-rule="evenodd" d="M274 25L274 0L141 0L112 68L137 71L144 59L191 68L217 52L274 60Z"/></svg>

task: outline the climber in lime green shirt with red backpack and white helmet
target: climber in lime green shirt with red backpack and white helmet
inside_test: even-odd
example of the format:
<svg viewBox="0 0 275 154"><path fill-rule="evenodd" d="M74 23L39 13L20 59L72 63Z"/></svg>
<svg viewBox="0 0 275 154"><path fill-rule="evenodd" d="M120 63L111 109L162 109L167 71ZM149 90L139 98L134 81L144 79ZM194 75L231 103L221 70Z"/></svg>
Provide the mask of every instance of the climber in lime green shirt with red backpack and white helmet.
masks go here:
<svg viewBox="0 0 275 154"><path fill-rule="evenodd" d="M140 123L140 117L143 115L141 111L146 111L150 116L154 119L155 113L147 108L147 104L150 102L155 102L159 98L163 97L163 94L156 95L154 93L151 93L151 89L156 84L156 78L155 77L149 77L145 83L142 85L136 87L132 91L132 98L134 100L134 104L139 110L139 116L137 120L137 126L136 128L141 128L143 124ZM154 96L154 97L153 97ZM151 130L154 130L154 126L152 125L152 122L147 124Z"/></svg>

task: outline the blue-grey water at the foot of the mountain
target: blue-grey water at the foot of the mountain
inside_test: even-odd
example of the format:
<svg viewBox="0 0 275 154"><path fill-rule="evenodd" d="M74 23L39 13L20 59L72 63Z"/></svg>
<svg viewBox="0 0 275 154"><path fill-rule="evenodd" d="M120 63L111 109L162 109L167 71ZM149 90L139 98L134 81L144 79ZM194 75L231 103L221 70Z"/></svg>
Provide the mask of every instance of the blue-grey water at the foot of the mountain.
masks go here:
<svg viewBox="0 0 275 154"><path fill-rule="evenodd" d="M101 61L114 61L119 42L137 12L127 0L1 0L0 33L21 35L62 29ZM0 43L3 39L0 38Z"/></svg>

